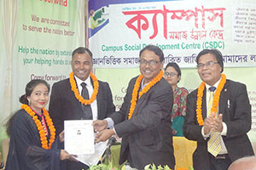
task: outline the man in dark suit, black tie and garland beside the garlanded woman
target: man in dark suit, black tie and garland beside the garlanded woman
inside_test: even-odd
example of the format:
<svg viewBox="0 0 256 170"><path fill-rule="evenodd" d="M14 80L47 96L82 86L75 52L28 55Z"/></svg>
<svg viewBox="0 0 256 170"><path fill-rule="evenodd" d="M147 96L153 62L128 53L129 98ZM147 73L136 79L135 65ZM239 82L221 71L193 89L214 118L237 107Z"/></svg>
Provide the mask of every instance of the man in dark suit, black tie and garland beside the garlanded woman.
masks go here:
<svg viewBox="0 0 256 170"><path fill-rule="evenodd" d="M72 54L73 72L69 78L54 83L50 96L49 113L53 119L56 134L61 133L64 129L65 120L101 120L115 111L108 82L96 80L91 73L92 65L90 50L76 48ZM83 87L84 83L85 87ZM84 99L86 98L84 97L86 89L87 99ZM68 170L82 168L87 169L88 167L80 162L67 162Z"/></svg>

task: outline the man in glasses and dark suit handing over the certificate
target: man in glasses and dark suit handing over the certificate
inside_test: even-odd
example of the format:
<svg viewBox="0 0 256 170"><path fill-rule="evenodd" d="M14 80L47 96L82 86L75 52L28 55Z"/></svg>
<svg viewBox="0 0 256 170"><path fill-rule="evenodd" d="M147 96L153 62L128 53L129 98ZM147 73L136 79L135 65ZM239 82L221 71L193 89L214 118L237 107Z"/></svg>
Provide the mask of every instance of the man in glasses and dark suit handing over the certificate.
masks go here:
<svg viewBox="0 0 256 170"><path fill-rule="evenodd" d="M119 164L126 160L131 167L168 165L174 169L172 147L171 85L163 78L164 54L154 45L140 51L139 77L129 82L120 111L104 121L94 122L96 142L105 141L113 134L122 137ZM111 121L113 128L106 129ZM103 129L103 130L102 130Z"/></svg>

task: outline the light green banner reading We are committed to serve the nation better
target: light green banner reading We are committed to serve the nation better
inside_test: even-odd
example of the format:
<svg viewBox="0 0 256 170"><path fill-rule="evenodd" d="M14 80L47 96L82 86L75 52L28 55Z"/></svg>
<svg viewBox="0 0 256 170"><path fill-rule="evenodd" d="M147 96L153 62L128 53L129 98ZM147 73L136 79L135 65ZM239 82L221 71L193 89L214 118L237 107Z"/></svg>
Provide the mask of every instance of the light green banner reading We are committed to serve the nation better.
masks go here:
<svg viewBox="0 0 256 170"><path fill-rule="evenodd" d="M14 48L13 100L26 83L44 79L52 84L68 77L73 49L79 46L79 1L22 0ZM50 13L47 11L51 11Z"/></svg>

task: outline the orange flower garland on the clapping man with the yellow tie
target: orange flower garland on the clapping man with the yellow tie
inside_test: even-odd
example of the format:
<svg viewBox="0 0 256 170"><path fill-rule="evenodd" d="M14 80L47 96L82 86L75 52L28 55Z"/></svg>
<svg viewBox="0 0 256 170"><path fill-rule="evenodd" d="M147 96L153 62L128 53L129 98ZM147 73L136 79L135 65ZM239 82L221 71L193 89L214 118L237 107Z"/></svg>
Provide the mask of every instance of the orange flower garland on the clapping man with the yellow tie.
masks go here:
<svg viewBox="0 0 256 170"><path fill-rule="evenodd" d="M225 83L226 83L226 76L224 74L221 74L221 81L218 83L218 88L216 89L216 92L213 96L212 108L211 108L211 112L213 112L213 113L217 113L217 111L218 111L219 96L220 96L222 89L224 88ZM202 113L201 113L201 105L202 105L202 96L204 93L205 86L206 86L206 83L201 82L201 85L199 86L198 92L197 92L196 118L197 118L197 122L200 126L204 125L204 121L203 121L203 117L202 117Z"/></svg>

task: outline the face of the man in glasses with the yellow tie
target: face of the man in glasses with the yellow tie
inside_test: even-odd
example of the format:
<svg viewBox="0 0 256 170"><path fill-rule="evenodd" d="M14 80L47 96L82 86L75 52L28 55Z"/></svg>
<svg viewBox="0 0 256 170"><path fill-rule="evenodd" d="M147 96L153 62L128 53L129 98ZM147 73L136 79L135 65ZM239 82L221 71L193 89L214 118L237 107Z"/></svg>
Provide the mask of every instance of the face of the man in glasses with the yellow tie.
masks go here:
<svg viewBox="0 0 256 170"><path fill-rule="evenodd" d="M213 54L203 54L198 59L198 65L199 64L207 64L209 61L212 61L214 63L217 63L218 60L215 58ZM222 68L218 64L214 65L204 65L202 68L198 68L198 74L201 77L201 80L206 82L208 85L212 86L221 77L221 70Z"/></svg>

